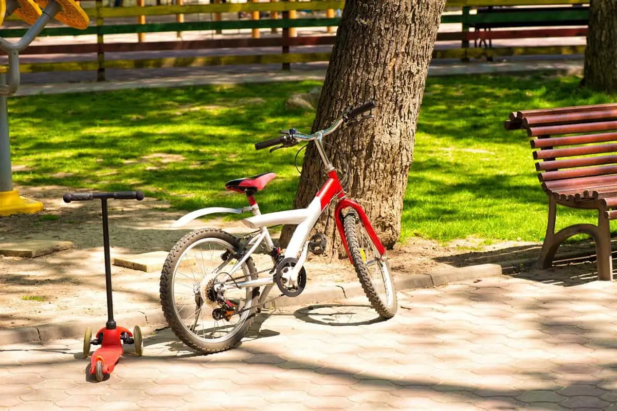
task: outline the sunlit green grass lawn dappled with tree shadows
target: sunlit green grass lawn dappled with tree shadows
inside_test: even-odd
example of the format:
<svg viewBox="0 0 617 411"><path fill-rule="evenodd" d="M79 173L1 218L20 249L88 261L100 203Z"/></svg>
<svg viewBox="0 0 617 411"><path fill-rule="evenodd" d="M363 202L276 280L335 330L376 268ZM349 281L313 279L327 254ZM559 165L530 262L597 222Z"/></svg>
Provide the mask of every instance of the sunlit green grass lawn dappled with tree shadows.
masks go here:
<svg viewBox="0 0 617 411"><path fill-rule="evenodd" d="M506 132L515 110L600 104L611 97L577 88L576 77L429 78L415 161L410 169L402 238L441 241L544 237L547 197L528 138ZM259 193L264 212L290 208L296 192L294 150L255 152L280 129L309 131L313 112L284 101L316 82L199 86L185 89L66 94L9 99L14 181L85 190L141 189L176 208L245 205L226 181L275 171ZM560 227L593 214L560 210Z"/></svg>

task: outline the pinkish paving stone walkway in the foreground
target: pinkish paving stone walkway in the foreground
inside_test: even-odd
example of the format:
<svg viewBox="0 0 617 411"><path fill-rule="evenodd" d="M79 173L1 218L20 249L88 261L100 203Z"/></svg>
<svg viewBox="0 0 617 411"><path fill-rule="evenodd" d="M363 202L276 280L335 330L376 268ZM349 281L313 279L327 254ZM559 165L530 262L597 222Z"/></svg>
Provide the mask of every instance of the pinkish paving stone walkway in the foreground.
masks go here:
<svg viewBox="0 0 617 411"><path fill-rule="evenodd" d="M616 291L495 277L402 292L387 322L363 298L284 309L212 356L161 330L101 383L81 341L4 346L0 409L617 410Z"/></svg>

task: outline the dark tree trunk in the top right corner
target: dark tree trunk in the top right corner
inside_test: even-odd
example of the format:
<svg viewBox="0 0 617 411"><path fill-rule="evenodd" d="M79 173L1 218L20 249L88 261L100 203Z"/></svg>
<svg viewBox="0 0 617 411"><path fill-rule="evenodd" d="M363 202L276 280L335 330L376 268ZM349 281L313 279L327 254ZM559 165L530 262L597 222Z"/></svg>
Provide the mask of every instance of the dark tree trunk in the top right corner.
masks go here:
<svg viewBox="0 0 617 411"><path fill-rule="evenodd" d="M584 84L596 91L617 92L617 2L592 0L585 51Z"/></svg>

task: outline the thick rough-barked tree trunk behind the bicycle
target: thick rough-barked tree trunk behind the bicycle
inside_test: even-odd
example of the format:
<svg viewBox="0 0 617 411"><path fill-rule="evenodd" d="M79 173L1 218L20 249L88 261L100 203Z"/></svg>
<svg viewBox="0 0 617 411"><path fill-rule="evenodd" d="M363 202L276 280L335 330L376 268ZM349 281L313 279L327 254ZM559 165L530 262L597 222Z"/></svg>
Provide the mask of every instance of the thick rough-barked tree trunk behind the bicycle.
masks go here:
<svg viewBox="0 0 617 411"><path fill-rule="evenodd" d="M342 181L342 165L349 163L346 192L365 208L386 248L392 248L400 234L418 110L444 4L445 0L347 0L313 123L313 131L326 128L350 105L376 101L375 118L324 141L331 144L326 153ZM294 207L307 206L317 193L316 184L323 182L320 156L310 144ZM336 245L332 241L337 238L333 214L331 207L316 226L328 238L330 255L339 250L339 240ZM293 228L284 227L282 245Z"/></svg>

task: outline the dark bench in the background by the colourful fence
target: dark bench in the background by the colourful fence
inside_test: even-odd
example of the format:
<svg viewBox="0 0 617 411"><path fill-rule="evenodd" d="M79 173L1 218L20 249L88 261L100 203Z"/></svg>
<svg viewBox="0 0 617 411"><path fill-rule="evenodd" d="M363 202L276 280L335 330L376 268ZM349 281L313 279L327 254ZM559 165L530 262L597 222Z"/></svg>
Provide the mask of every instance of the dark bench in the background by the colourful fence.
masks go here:
<svg viewBox="0 0 617 411"><path fill-rule="evenodd" d="M483 30L474 39L474 46L492 47L490 31L494 28L518 28L534 26L587 26L589 6L573 4L560 7L508 7L486 6L478 7L476 14L469 15L470 28L475 31ZM562 29L563 31L563 29ZM525 36L529 36L526 31ZM533 30L533 37L559 36L559 31L550 29ZM567 33L567 32L566 32ZM487 44L488 40L488 44Z"/></svg>

